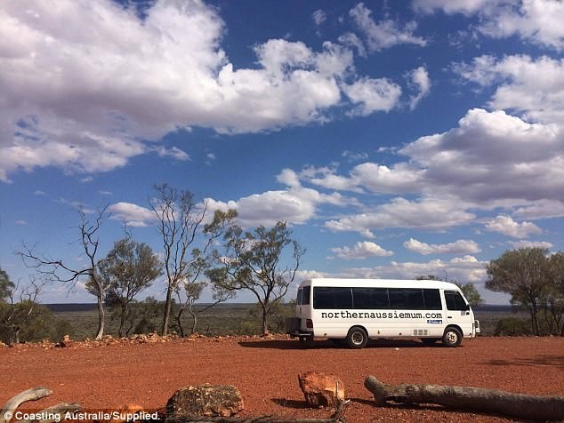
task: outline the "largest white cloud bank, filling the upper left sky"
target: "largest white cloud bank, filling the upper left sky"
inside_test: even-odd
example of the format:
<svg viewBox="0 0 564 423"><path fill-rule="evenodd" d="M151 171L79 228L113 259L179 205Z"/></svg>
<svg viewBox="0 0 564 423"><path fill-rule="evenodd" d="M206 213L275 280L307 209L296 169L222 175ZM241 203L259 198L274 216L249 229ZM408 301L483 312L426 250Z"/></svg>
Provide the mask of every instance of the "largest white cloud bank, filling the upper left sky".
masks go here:
<svg viewBox="0 0 564 423"><path fill-rule="evenodd" d="M236 67L218 13L199 0L153 2L143 19L109 0L0 2L0 180L46 166L108 172L150 152L187 160L148 140L191 126L242 133L324 123L330 108L367 115L399 100L399 85L356 76L342 44L313 51L270 39L254 46L257 66ZM384 28L393 43L420 43Z"/></svg>

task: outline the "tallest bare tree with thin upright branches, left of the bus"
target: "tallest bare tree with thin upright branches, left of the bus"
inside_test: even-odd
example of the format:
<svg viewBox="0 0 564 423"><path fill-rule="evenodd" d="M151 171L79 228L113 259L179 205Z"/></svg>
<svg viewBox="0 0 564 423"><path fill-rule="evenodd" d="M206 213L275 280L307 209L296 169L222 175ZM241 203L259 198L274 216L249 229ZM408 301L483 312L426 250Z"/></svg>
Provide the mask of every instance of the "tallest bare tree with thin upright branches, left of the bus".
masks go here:
<svg viewBox="0 0 564 423"><path fill-rule="evenodd" d="M166 335L173 293L190 272L193 263L193 258L189 257L190 248L198 241L197 235L200 235L199 229L205 219L207 204L197 202L191 192L179 191L167 184L157 185L153 189L156 196L149 199L149 204L157 216L158 231L164 247L166 299L162 334ZM235 211L221 213L222 219L233 219L236 215ZM220 215L216 212L214 222L217 216ZM215 232L207 233L206 239L202 240L205 243L202 255L205 255L214 238L222 233L222 224L219 220L216 223Z"/></svg>

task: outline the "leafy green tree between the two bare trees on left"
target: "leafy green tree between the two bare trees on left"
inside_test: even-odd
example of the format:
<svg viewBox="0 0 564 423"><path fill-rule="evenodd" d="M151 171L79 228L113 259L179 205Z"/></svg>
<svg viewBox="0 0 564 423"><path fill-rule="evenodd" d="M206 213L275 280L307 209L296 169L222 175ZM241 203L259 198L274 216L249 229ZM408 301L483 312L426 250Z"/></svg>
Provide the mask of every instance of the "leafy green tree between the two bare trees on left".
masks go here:
<svg viewBox="0 0 564 423"><path fill-rule="evenodd" d="M135 296L149 288L162 274L162 263L146 243L137 243L126 237L114 243L106 259L101 260L96 271L104 286L104 302L119 312L117 335L124 335L125 316ZM97 294L98 288L91 280L86 290Z"/></svg>

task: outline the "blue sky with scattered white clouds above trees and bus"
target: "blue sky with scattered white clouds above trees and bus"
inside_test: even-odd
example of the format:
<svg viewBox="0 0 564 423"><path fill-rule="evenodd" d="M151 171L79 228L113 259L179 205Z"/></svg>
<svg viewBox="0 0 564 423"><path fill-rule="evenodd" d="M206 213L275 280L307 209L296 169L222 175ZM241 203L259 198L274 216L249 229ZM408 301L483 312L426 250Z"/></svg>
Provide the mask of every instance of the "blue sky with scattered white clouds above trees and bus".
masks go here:
<svg viewBox="0 0 564 423"><path fill-rule="evenodd" d="M432 274L506 303L490 259L563 248L560 1L8 0L0 21L14 282L22 242L80 267L79 205L109 205L104 253L124 220L159 251L162 182L245 227L286 220L301 278Z"/></svg>

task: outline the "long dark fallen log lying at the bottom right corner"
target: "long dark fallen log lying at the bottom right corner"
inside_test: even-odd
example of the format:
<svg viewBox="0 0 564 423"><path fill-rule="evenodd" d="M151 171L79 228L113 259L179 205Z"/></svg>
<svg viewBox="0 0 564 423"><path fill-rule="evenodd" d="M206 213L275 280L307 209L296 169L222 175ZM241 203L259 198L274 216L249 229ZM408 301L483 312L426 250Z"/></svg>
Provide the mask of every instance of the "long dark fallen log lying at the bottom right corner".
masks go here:
<svg viewBox="0 0 564 423"><path fill-rule="evenodd" d="M364 386L373 393L375 403L431 403L464 411L528 420L564 419L564 397L512 394L480 387L450 387L442 385L386 385L374 376L367 376Z"/></svg>

